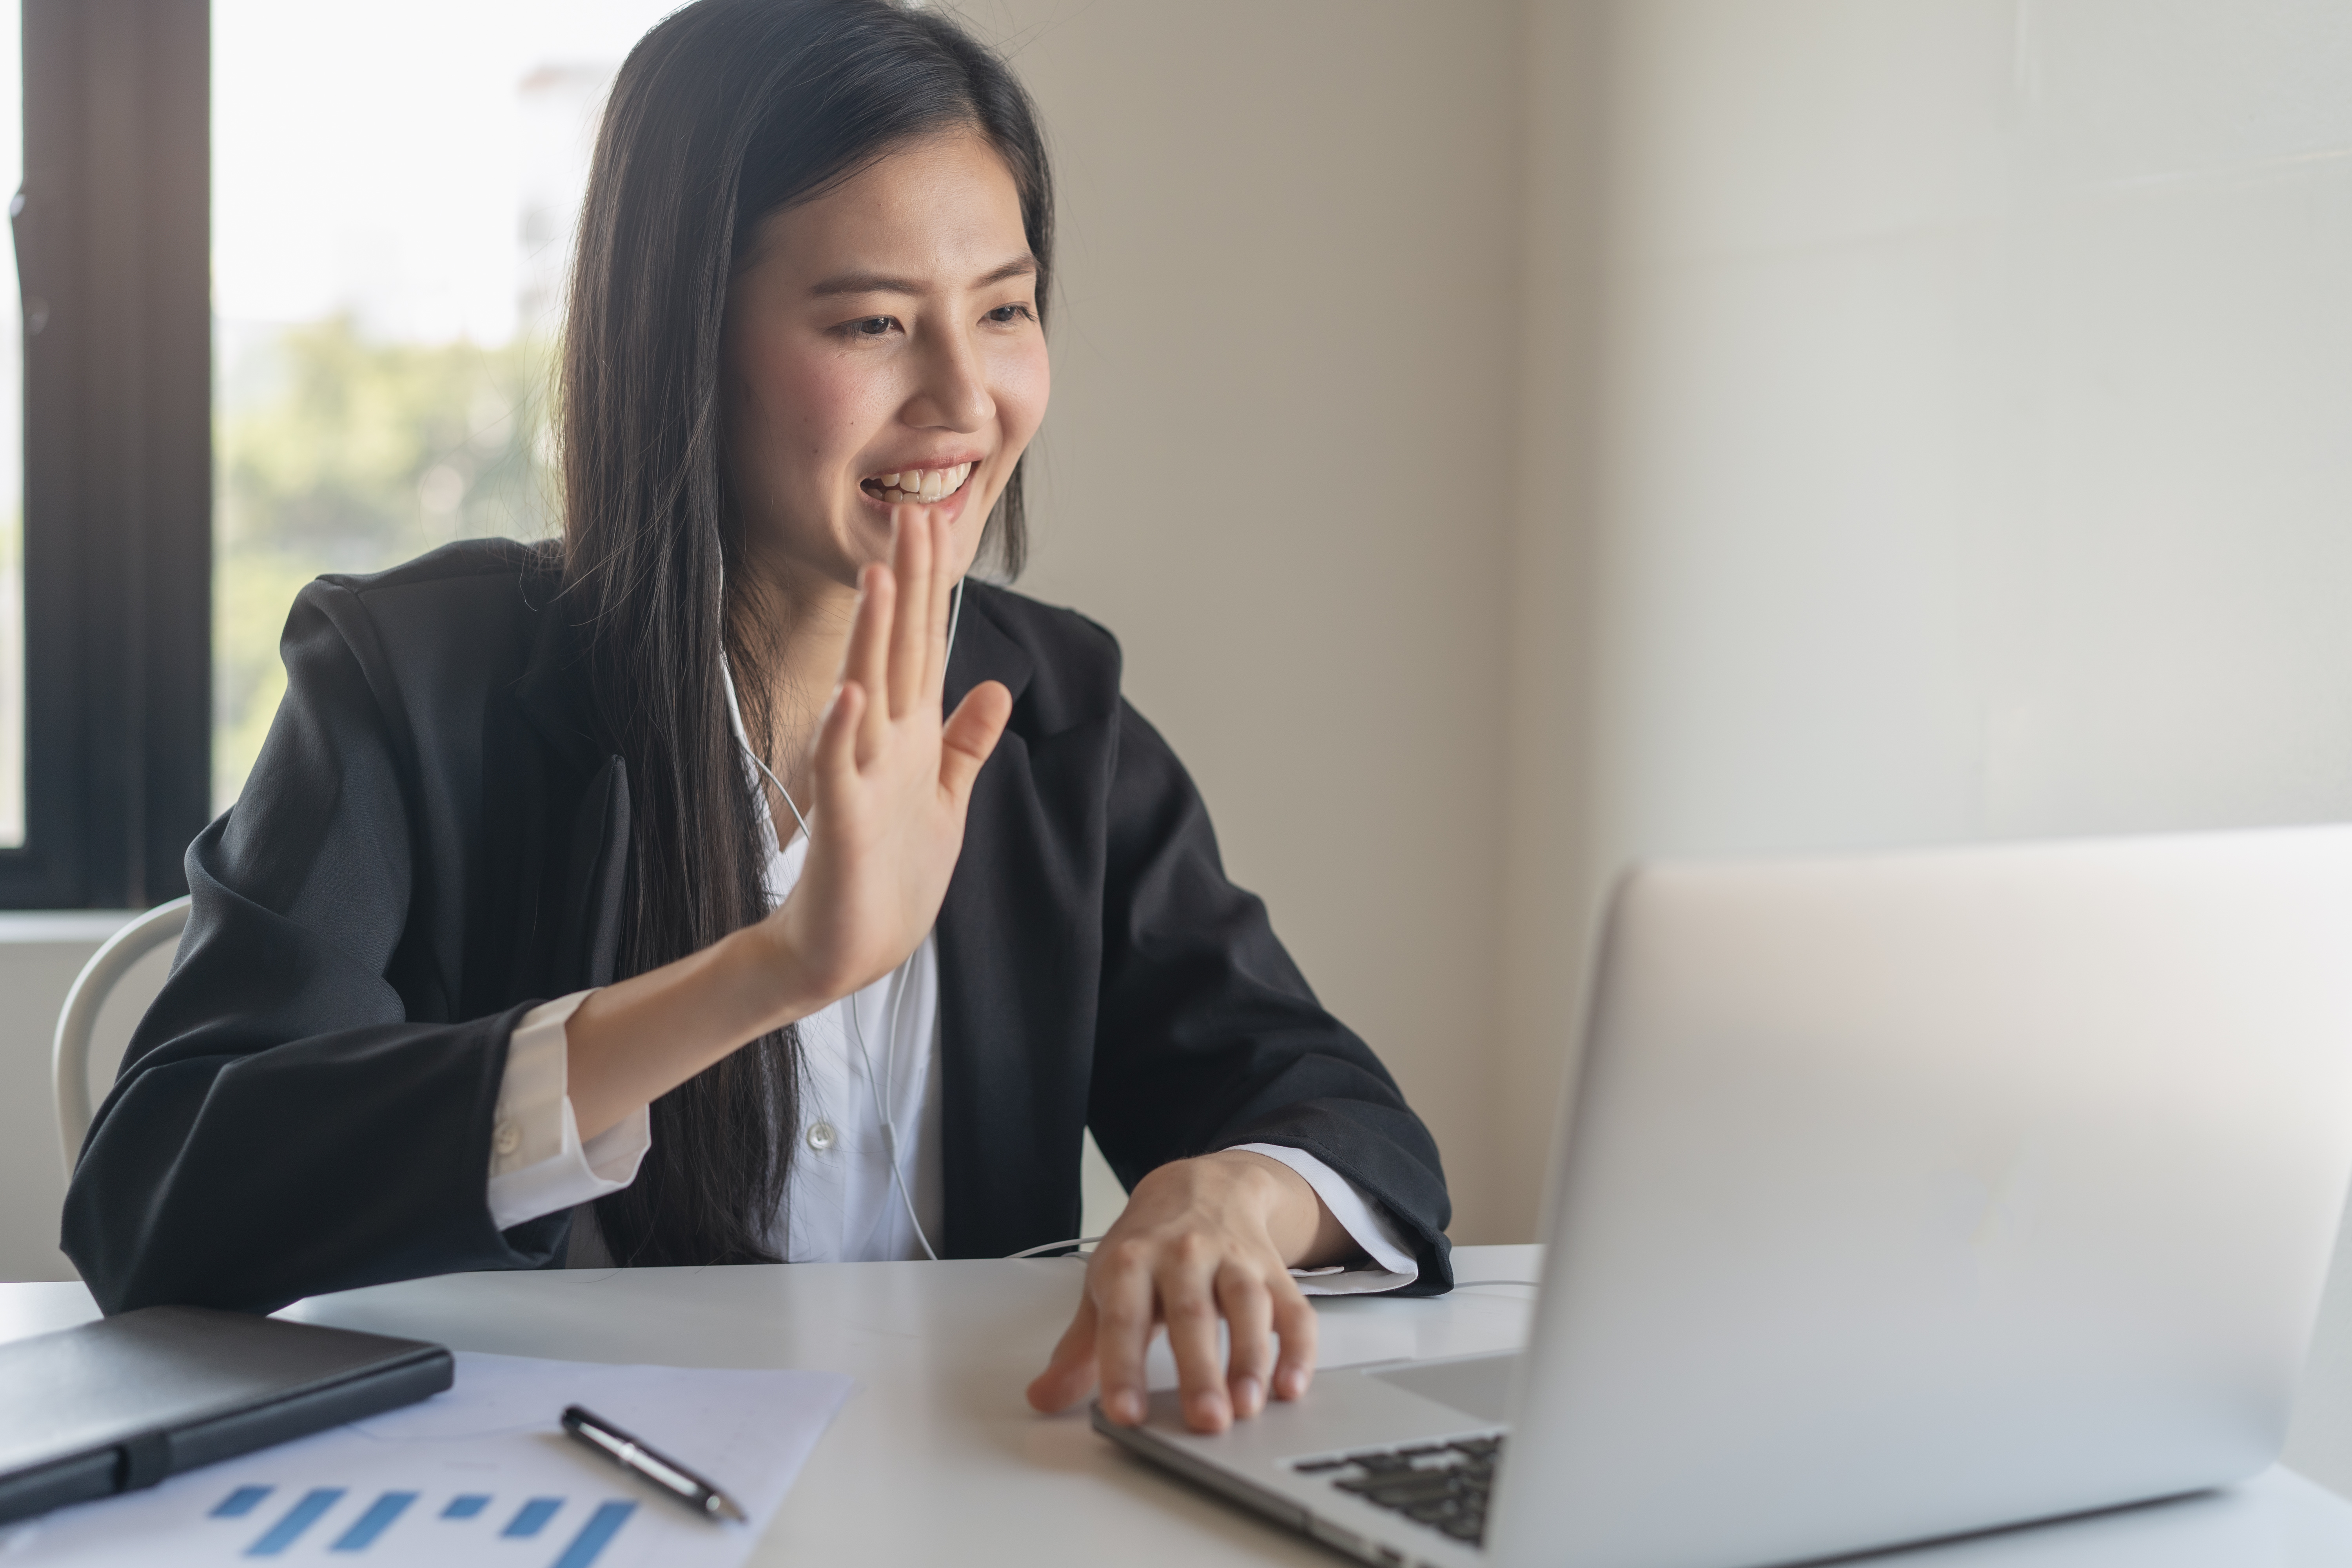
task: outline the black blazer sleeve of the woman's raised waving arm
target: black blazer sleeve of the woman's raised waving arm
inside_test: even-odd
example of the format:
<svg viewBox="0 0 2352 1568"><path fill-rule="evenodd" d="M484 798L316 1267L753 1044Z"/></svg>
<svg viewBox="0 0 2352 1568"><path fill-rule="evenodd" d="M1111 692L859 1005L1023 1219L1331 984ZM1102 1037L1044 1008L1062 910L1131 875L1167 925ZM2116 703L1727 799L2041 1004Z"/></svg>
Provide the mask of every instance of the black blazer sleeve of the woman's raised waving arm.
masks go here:
<svg viewBox="0 0 2352 1568"><path fill-rule="evenodd" d="M355 654L365 616L346 588L301 592L261 759L188 849L179 959L66 1192L64 1248L106 1312L270 1312L541 1267L564 1241L562 1213L501 1234L487 1204L506 1041L532 1004L412 1020L390 978L419 877L416 771Z"/></svg>

